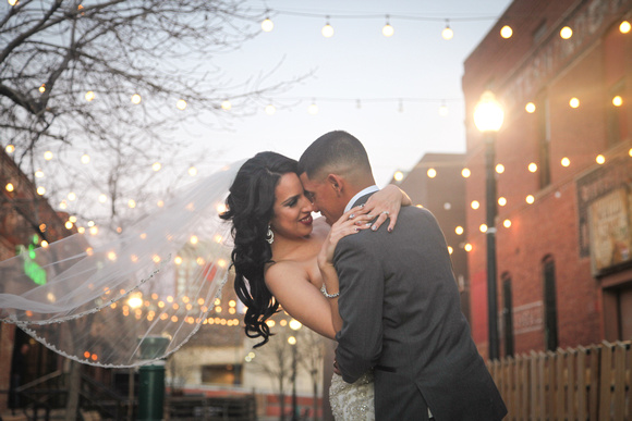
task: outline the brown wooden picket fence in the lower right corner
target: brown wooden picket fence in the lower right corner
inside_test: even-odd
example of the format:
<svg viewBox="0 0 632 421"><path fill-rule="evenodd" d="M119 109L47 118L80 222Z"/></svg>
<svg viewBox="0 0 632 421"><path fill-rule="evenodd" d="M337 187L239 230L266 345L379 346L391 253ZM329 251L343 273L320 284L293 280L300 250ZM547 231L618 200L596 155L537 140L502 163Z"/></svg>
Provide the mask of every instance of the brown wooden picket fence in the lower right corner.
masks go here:
<svg viewBox="0 0 632 421"><path fill-rule="evenodd" d="M632 420L630 342L507 357L488 369L505 420Z"/></svg>

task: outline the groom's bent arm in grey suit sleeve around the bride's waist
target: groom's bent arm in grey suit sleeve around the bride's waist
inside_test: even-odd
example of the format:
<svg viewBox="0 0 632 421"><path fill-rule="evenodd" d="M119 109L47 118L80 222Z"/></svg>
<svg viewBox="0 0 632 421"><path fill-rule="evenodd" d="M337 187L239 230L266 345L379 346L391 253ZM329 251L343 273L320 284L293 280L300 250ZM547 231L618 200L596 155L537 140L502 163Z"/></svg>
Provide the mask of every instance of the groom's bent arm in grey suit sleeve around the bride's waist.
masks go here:
<svg viewBox="0 0 632 421"><path fill-rule="evenodd" d="M336 360L342 379L353 383L381 354L384 274L379 260L351 237L338 244L333 264L340 280L342 318Z"/></svg>

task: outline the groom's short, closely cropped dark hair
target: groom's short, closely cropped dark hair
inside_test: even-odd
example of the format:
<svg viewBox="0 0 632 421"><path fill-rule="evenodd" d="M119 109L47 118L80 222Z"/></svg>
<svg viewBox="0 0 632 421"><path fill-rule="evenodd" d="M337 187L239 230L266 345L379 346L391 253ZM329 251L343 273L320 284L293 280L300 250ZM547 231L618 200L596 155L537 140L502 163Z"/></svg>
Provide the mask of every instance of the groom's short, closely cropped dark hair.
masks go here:
<svg viewBox="0 0 632 421"><path fill-rule="evenodd" d="M324 134L305 149L299 160L299 175L303 173L311 179L317 179L330 173L372 175L372 170L362 143L347 132L333 131Z"/></svg>

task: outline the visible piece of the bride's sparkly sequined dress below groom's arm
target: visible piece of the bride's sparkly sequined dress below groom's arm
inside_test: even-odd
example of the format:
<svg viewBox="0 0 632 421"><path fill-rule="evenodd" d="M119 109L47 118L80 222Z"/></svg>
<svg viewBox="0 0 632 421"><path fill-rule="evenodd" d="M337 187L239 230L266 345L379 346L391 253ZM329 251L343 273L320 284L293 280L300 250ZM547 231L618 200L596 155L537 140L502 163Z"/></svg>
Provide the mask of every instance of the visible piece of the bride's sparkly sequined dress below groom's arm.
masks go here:
<svg viewBox="0 0 632 421"><path fill-rule="evenodd" d="M375 420L373 372L350 384L333 374L329 387L329 404L336 421Z"/></svg>

